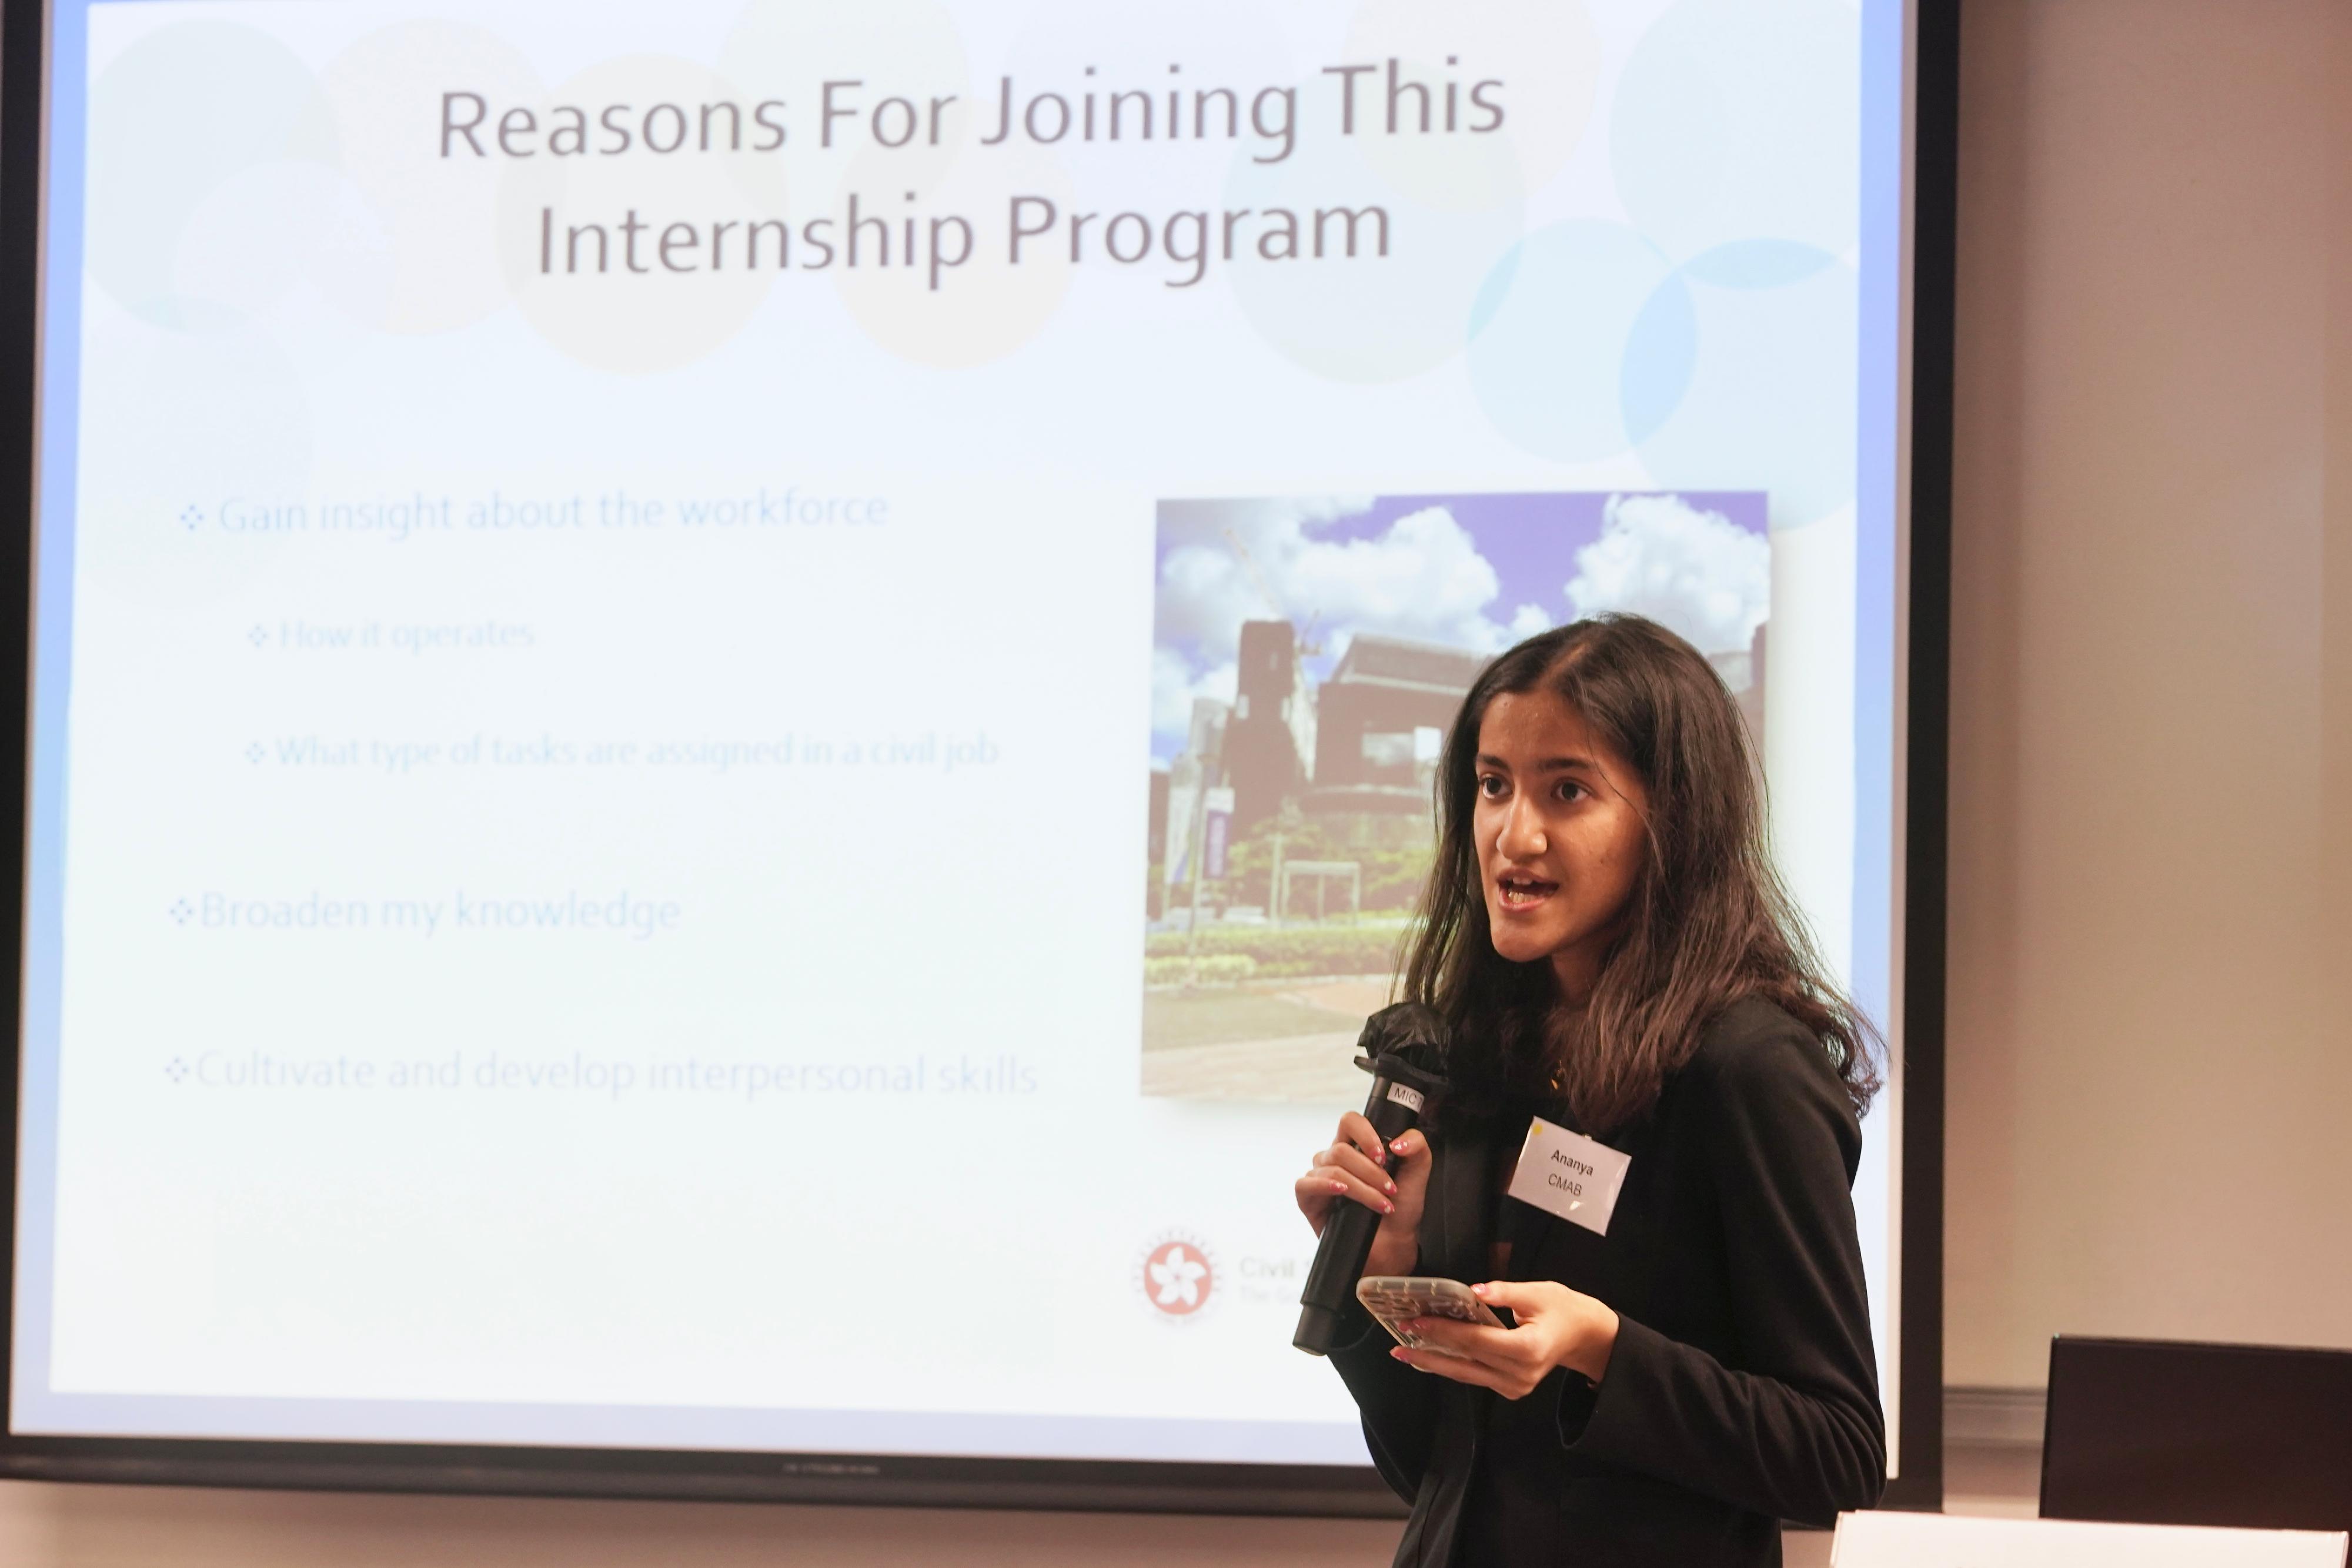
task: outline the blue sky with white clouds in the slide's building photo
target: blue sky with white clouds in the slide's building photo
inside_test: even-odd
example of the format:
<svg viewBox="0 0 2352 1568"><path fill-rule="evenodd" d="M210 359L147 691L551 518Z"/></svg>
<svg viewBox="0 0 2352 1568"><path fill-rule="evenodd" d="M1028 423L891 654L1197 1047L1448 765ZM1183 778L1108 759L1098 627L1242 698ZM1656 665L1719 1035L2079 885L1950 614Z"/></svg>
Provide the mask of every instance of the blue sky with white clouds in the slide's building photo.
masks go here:
<svg viewBox="0 0 2352 1568"><path fill-rule="evenodd" d="M1232 701L1242 621L1298 625L1319 682L1357 632L1498 654L1630 609L1726 654L1771 607L1762 491L1162 501L1155 571L1160 762L1195 696Z"/></svg>

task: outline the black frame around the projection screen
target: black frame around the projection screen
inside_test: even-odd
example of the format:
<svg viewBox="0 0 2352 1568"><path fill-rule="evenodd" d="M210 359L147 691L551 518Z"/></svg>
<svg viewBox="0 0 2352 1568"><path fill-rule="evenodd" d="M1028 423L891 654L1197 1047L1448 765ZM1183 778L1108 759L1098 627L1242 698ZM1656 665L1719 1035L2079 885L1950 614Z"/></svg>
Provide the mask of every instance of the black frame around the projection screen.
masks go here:
<svg viewBox="0 0 2352 1568"><path fill-rule="evenodd" d="M1952 256L1959 0L1915 0L1910 602L1903 844L1903 1474L1886 1507L1943 1505L1943 990L1945 712L1950 668ZM0 5L0 809L26 823L33 477L40 374L40 219L47 5ZM24 886L24 832L0 842L0 886ZM24 952L21 898L0 943ZM0 999L21 1020L21 971ZM21 1027L21 1025L19 1025ZM0 1072L0 1321L14 1307L21 1051ZM9 1338L12 1342L12 1338ZM0 1413L12 1361L0 1356ZM1364 1467L967 1460L242 1439L0 1434L0 1476L143 1486L527 1497L663 1497L1002 1509L1390 1516Z"/></svg>

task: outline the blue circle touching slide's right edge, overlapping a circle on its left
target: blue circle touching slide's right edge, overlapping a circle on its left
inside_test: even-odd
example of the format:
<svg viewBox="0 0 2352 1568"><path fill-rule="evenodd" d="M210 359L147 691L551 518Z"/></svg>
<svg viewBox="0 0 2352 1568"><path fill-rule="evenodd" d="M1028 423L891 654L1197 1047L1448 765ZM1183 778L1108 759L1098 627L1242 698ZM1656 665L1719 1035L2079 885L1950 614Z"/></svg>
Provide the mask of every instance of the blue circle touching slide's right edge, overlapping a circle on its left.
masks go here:
<svg viewBox="0 0 2352 1568"><path fill-rule="evenodd" d="M1776 527L1846 505L1853 268L1804 244L1745 240L1693 256L1658 296L1625 346L1628 423L1656 482L1771 491Z"/></svg>

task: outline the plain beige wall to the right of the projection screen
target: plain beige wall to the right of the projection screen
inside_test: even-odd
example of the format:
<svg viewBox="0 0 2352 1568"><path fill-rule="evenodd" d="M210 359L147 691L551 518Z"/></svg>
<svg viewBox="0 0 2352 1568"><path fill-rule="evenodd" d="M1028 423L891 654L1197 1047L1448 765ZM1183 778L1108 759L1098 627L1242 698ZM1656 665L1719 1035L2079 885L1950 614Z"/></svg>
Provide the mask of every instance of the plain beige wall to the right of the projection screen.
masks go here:
<svg viewBox="0 0 2352 1568"><path fill-rule="evenodd" d="M2352 1345L2352 7L1964 16L1945 1375Z"/></svg>

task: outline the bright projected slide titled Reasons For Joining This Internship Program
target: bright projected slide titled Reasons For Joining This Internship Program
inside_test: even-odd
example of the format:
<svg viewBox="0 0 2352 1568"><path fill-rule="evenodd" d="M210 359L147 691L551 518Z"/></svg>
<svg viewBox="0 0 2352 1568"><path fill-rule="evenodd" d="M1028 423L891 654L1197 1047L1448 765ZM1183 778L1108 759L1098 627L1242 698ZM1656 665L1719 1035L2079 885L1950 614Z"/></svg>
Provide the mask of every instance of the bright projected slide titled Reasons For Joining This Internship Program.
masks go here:
<svg viewBox="0 0 2352 1568"><path fill-rule="evenodd" d="M54 0L12 1429L1367 1465L1291 1180L1486 658L1703 649L1889 1016L1903 75Z"/></svg>

